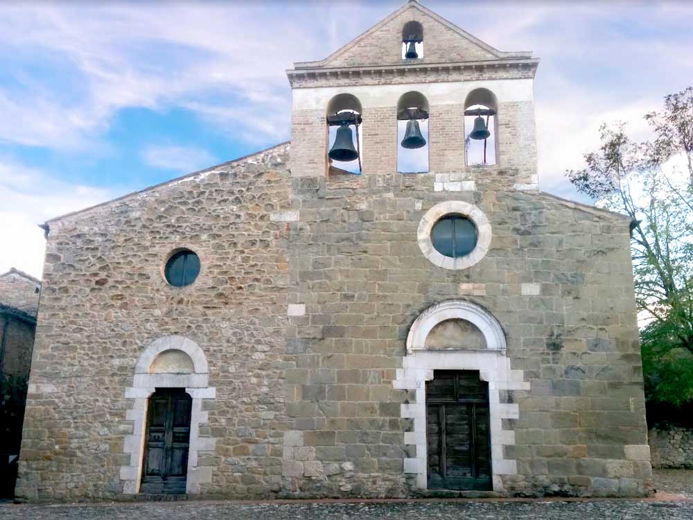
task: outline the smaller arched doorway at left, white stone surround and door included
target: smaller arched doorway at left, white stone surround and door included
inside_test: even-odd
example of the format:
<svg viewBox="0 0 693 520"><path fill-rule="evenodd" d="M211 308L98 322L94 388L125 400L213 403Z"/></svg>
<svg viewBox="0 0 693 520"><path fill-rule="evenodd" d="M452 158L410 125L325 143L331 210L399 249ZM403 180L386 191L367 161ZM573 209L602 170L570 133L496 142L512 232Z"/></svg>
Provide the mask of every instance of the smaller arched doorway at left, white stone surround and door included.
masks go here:
<svg viewBox="0 0 693 520"><path fill-rule="evenodd" d="M132 399L126 415L132 421L132 434L123 442L123 453L130 456L129 463L121 466L123 494L197 494L201 485L211 482L213 467L200 465L199 456L213 453L216 438L200 435L200 426L209 421L202 402L215 397L200 345L184 336L162 336L145 347L132 387L125 389L125 398ZM182 491L164 489L164 478L154 485L157 475L166 476L167 482L176 477L174 488Z"/></svg>

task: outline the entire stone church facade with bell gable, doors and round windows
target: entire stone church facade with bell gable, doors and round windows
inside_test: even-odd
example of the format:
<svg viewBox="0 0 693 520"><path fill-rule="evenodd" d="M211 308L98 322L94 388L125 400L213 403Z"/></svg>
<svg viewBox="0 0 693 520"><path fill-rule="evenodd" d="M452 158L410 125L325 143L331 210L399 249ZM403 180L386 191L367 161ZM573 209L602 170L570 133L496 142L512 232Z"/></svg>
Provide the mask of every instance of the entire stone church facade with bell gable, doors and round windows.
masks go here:
<svg viewBox="0 0 693 520"><path fill-rule="evenodd" d="M538 190L537 65L410 1L288 71L290 144L46 223L17 494L647 494L629 220Z"/></svg>

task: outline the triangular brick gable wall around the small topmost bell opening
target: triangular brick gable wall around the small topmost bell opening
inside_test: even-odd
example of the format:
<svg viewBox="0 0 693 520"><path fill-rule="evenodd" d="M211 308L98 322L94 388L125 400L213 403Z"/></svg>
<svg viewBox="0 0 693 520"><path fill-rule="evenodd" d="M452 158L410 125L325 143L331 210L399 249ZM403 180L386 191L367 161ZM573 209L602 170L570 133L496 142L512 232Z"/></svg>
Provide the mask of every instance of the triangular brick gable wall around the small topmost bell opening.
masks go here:
<svg viewBox="0 0 693 520"><path fill-rule="evenodd" d="M401 12L378 31L362 38L351 49L326 63L328 67L361 67L365 65L400 64L402 58L402 29L407 21L419 21L423 26L423 57L417 63L444 63L493 60L497 56L471 40L459 35L418 8Z"/></svg>

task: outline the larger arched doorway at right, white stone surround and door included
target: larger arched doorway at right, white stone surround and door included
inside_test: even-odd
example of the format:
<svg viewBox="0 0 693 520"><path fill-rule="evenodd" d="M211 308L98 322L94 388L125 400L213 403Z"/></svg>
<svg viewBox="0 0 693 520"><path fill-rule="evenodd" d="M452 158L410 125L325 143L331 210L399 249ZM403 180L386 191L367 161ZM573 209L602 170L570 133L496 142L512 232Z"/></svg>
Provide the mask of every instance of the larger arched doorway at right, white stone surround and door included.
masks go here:
<svg viewBox="0 0 693 520"><path fill-rule="evenodd" d="M412 323L393 386L416 395L401 406L401 417L414 419L404 442L416 446L416 456L404 459L404 471L416 475L420 489L502 491L503 478L517 474L516 460L504 453L515 444L515 433L502 421L517 419L519 408L501 402L500 392L529 390L529 383L522 370L511 368L506 351L498 320L466 300L432 305ZM476 439L469 438L472 433ZM432 451L437 453L430 458Z"/></svg>

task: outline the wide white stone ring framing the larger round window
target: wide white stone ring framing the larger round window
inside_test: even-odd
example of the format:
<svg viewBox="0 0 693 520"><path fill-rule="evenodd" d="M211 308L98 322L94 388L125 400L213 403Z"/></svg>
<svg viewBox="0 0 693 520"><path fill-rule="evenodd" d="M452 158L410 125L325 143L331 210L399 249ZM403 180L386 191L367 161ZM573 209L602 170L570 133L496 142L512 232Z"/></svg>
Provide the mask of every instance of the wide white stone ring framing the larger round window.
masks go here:
<svg viewBox="0 0 693 520"><path fill-rule="evenodd" d="M444 216L450 214L462 215L471 220L477 228L477 244L471 252L464 257L446 257L433 247L431 232L435 223ZM460 270L473 266L486 256L491 247L491 223L486 218L484 212L473 204L462 200L446 200L439 202L421 217L419 230L416 232L419 249L431 263L435 266L449 269Z"/></svg>

